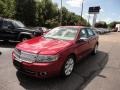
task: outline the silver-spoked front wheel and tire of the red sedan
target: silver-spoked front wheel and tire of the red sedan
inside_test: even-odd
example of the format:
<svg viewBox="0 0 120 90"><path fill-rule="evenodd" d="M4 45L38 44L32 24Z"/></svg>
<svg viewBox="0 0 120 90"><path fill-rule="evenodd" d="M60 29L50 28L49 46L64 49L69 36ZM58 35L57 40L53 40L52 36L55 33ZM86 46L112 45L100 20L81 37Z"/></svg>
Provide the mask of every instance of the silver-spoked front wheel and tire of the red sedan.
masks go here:
<svg viewBox="0 0 120 90"><path fill-rule="evenodd" d="M68 77L71 75L71 73L74 70L74 65L75 65L75 59L73 56L69 56L63 66L62 69L62 76L63 77Z"/></svg>

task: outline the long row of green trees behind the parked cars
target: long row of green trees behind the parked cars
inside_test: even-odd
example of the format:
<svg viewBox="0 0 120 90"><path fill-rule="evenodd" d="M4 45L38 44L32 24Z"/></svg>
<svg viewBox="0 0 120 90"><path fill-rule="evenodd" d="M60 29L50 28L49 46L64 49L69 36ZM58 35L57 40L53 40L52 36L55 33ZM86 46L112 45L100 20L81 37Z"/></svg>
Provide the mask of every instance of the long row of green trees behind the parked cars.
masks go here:
<svg viewBox="0 0 120 90"><path fill-rule="evenodd" d="M0 0L0 17L15 18L27 26L59 26L60 11L52 0ZM62 25L90 25L65 7L62 14Z"/></svg>

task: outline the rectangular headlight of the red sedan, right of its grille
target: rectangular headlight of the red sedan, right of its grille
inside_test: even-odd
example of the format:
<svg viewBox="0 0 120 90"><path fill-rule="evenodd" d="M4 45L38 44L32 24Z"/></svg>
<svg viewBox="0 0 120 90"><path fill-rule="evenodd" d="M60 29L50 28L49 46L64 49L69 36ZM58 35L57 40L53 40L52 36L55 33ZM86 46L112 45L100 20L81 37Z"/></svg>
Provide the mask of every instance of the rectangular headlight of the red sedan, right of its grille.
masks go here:
<svg viewBox="0 0 120 90"><path fill-rule="evenodd" d="M52 62L58 60L58 55L38 55L36 62Z"/></svg>

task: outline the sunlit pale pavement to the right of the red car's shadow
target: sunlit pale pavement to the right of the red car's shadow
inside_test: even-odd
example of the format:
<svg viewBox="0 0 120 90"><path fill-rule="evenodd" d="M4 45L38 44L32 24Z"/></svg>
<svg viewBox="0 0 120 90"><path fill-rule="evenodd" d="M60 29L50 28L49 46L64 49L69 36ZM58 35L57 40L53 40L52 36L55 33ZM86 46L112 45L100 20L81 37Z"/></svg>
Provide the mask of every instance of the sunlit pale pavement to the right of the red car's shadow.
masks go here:
<svg viewBox="0 0 120 90"><path fill-rule="evenodd" d="M84 90L120 90L120 33L100 37L100 50L108 53L108 63Z"/></svg>

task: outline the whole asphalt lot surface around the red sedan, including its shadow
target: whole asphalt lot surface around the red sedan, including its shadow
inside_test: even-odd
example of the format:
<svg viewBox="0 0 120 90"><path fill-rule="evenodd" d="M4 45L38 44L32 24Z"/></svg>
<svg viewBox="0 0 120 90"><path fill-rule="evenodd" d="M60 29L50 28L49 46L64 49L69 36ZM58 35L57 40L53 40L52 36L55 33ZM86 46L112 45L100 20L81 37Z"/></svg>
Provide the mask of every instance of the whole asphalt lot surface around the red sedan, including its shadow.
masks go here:
<svg viewBox="0 0 120 90"><path fill-rule="evenodd" d="M99 52L88 56L68 78L35 79L19 73L11 54L17 43L0 42L0 90L120 90L120 33L100 36Z"/></svg>

